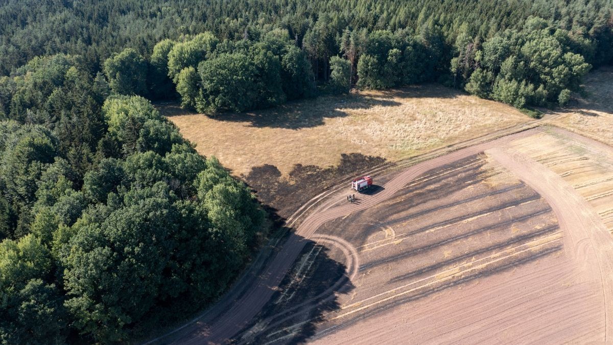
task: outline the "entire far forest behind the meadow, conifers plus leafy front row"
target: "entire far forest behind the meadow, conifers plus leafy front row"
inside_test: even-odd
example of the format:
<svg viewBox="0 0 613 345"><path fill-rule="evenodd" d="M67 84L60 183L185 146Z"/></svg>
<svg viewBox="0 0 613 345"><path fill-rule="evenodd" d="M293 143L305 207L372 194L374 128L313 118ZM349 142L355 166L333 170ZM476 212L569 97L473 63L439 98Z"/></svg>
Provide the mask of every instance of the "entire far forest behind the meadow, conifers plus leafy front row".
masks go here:
<svg viewBox="0 0 613 345"><path fill-rule="evenodd" d="M610 0L6 2L0 71L18 73L37 55L78 54L116 93L180 98L207 113L425 81L517 107L549 106L566 103L591 66L613 61L612 7Z"/></svg>

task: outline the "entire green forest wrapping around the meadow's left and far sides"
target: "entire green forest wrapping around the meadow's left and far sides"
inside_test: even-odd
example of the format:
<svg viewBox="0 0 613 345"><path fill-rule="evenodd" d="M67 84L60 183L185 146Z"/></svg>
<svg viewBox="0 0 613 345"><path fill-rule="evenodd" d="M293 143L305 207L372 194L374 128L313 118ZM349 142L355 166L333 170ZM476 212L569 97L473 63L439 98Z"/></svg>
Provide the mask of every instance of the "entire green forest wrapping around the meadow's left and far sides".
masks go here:
<svg viewBox="0 0 613 345"><path fill-rule="evenodd" d="M129 341L204 308L266 236L151 101L205 114L439 82L557 106L613 63L611 1L4 1L0 341Z"/></svg>

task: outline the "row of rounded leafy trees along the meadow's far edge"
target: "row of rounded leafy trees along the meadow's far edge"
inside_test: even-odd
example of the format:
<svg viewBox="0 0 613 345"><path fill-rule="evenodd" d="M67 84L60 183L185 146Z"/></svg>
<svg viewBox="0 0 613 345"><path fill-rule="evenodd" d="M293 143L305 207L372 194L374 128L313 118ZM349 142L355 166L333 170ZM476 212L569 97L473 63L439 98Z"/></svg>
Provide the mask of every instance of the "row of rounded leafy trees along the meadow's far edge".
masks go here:
<svg viewBox="0 0 613 345"><path fill-rule="evenodd" d="M453 45L430 22L419 33L406 29L345 29L330 53L324 79L305 37L302 48L287 29L272 29L257 39L221 40L210 32L165 39L147 61L132 48L103 64L115 93L150 98L179 96L181 105L206 114L242 112L275 106L318 93L360 88L390 88L438 81L484 98L512 104L566 104L595 61L596 48L585 37L530 18L524 28L506 29L484 42L467 25ZM100 76L99 76L100 77Z"/></svg>

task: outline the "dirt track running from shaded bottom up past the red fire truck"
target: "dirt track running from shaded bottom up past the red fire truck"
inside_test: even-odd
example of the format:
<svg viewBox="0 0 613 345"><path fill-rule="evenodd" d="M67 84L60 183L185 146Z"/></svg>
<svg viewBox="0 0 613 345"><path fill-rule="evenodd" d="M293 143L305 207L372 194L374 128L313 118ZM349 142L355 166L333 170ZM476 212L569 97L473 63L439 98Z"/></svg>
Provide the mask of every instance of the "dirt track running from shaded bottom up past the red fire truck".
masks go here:
<svg viewBox="0 0 613 345"><path fill-rule="evenodd" d="M246 327L249 321L251 321L253 317L261 311L267 301L270 300L273 293L275 293L274 288L280 284L281 280L294 263L297 255L299 255L300 250L302 250L305 245L305 239L311 238L323 223L381 203L392 196L397 190L408 184L408 182L427 171L475 155L486 149L501 145L504 142L535 134L538 131L540 131L539 128L534 128L532 130L511 134L494 141L466 147L465 149L433 158L432 160L423 161L398 174L394 179L384 185L381 192L370 196L364 195L363 201L360 204L345 204L344 206L337 206L323 212L311 214L295 231L295 235L297 236L291 236L287 240L280 252L270 260L264 273L257 278L248 291L240 297L237 297L234 303L227 306L221 315L208 320L202 320L190 327L186 327L185 330L181 331L180 335L175 335L173 343L217 344L224 343L231 339L238 331Z"/></svg>

